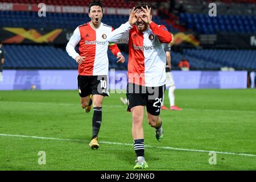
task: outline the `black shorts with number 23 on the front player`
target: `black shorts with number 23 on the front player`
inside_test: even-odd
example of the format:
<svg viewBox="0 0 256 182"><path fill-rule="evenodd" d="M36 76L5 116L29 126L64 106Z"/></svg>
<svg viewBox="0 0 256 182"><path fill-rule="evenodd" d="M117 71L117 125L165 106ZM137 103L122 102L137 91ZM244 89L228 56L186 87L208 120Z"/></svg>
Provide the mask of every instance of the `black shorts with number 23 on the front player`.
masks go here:
<svg viewBox="0 0 256 182"><path fill-rule="evenodd" d="M146 106L148 113L160 115L164 90L166 90L166 85L146 87L131 83L127 84L127 111L130 111L135 106Z"/></svg>

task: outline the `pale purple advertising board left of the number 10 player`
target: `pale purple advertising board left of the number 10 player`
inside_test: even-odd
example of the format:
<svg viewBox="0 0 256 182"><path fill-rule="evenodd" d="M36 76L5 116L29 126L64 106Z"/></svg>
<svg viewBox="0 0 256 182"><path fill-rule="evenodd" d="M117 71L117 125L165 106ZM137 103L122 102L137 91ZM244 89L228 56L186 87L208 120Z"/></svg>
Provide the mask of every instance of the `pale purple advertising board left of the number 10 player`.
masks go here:
<svg viewBox="0 0 256 182"><path fill-rule="evenodd" d="M0 90L30 90L32 85L38 90L76 89L76 77L73 70L5 70Z"/></svg>

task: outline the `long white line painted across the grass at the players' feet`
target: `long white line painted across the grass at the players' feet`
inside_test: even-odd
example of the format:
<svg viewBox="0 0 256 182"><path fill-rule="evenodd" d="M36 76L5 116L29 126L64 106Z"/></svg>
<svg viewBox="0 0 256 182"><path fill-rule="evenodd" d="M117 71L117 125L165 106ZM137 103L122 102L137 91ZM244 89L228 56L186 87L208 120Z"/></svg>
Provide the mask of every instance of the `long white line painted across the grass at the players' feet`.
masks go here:
<svg viewBox="0 0 256 182"><path fill-rule="evenodd" d="M86 142L85 140L79 140L79 139L48 138L48 137L26 136L26 135L0 134L0 136L3 136L3 137L23 137L23 138L36 138L36 139L49 139L49 140L63 140L63 141ZM133 144L130 144L130 143L117 143L117 142L106 142L106 141L100 141L99 143L117 144L117 145L122 145L122 146L133 146ZM209 152L216 152L217 154L243 155L243 156L256 157L256 155L253 155L253 154L241 154L241 153L234 153L234 152L208 151L208 150L197 150L197 149L176 148L176 147L160 147L160 146L158 146L158 147L156 147L156 146L145 146L145 147L163 148L163 149L167 149L167 150L189 151L189 152L207 152L207 153L209 153Z"/></svg>

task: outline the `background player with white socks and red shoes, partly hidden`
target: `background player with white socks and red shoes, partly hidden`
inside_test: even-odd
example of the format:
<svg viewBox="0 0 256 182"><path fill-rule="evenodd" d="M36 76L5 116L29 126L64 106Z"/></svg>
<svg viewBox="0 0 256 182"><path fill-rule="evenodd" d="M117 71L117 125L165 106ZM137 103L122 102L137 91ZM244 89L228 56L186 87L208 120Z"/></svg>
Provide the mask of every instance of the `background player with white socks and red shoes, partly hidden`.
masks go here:
<svg viewBox="0 0 256 182"><path fill-rule="evenodd" d="M173 39L172 35L172 41ZM180 107L175 105L175 95L174 95L174 90L175 90L175 82L174 82L174 76L172 75L171 72L171 43L170 44L163 44L164 51L166 52L166 86L169 86L168 89L168 97L170 100L170 109L171 110L182 110ZM163 101L164 104L164 101ZM163 110L168 110L169 108L166 106L162 106Z"/></svg>

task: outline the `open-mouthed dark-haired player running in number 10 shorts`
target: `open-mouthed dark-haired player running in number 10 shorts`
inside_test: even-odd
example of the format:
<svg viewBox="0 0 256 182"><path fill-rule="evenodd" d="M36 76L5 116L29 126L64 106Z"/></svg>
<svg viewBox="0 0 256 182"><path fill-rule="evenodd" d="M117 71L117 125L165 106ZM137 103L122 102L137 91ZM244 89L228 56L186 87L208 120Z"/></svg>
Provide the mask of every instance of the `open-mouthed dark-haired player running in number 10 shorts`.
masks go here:
<svg viewBox="0 0 256 182"><path fill-rule="evenodd" d="M98 133L102 122L102 102L108 91L108 47L119 59L117 63L123 63L125 57L121 54L116 44L109 44L108 34L113 28L102 23L103 8L101 1L93 1L89 5L90 22L82 24L74 31L66 50L79 64L77 84L82 108L88 113L93 102L92 140L90 148L100 147ZM79 53L75 51L79 43Z"/></svg>

